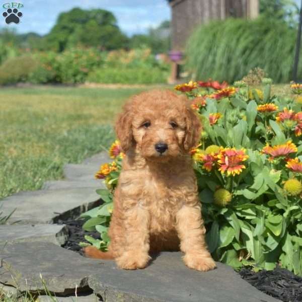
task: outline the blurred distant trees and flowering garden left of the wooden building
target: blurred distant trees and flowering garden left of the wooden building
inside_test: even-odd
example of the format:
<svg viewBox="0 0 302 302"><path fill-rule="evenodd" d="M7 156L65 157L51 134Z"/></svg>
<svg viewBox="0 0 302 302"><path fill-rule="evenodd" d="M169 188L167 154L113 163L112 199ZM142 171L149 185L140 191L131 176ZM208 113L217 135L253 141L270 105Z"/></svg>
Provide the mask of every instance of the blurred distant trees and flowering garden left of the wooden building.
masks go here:
<svg viewBox="0 0 302 302"><path fill-rule="evenodd" d="M0 32L0 85L154 84L169 75L169 21L128 38L105 10L72 9L46 36Z"/></svg>

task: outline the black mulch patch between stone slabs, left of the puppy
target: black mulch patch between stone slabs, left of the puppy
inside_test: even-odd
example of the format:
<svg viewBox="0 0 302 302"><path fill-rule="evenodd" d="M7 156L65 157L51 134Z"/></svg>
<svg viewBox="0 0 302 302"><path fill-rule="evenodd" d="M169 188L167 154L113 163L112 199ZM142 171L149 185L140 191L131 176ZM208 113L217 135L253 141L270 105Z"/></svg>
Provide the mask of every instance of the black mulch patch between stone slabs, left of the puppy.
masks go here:
<svg viewBox="0 0 302 302"><path fill-rule="evenodd" d="M66 228L68 230L68 240L65 242L64 245L62 245L63 248L67 250L71 250L77 253L80 253L83 255L81 249L82 247L79 246L80 242L86 242L88 243L84 236L89 235L93 238L100 239L100 233L99 232L87 232L84 231L82 226L84 224L84 219L79 220L67 220L67 221L58 221L58 223L64 223L66 224Z"/></svg>

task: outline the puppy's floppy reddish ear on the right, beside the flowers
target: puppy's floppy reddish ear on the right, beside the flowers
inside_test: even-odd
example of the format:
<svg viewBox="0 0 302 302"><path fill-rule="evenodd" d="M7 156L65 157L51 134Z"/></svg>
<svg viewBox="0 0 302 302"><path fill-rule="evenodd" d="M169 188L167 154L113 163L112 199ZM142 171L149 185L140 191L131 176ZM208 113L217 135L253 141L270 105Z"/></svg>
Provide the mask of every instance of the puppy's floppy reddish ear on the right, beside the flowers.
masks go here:
<svg viewBox="0 0 302 302"><path fill-rule="evenodd" d="M198 144L202 126L197 114L193 111L189 104L187 104L185 112L186 134L184 139L184 149L189 151Z"/></svg>

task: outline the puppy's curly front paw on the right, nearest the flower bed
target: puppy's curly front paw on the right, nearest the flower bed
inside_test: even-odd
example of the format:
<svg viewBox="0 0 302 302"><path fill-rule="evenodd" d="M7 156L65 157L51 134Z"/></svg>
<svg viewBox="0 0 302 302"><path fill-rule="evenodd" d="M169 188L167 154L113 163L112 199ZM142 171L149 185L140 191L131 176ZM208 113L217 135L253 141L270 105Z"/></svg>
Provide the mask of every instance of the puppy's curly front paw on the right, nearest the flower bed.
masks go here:
<svg viewBox="0 0 302 302"><path fill-rule="evenodd" d="M216 268L215 261L210 255L207 256L200 253L189 253L183 257L183 260L187 267L203 272Z"/></svg>

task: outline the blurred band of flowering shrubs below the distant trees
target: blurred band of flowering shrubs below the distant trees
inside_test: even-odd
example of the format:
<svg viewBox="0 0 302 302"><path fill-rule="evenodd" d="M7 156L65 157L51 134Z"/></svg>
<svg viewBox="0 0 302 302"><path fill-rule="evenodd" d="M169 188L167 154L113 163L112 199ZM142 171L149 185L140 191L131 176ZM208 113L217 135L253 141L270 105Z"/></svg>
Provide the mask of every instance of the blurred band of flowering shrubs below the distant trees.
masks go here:
<svg viewBox="0 0 302 302"><path fill-rule="evenodd" d="M15 60L17 66L11 66L15 65ZM156 60L149 49L107 53L97 48L78 47L62 53L47 51L20 56L6 61L0 66L1 70L0 84L3 85L25 81L34 84L75 84L87 80L97 83L154 84L167 82L169 64Z"/></svg>

